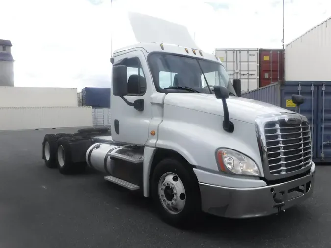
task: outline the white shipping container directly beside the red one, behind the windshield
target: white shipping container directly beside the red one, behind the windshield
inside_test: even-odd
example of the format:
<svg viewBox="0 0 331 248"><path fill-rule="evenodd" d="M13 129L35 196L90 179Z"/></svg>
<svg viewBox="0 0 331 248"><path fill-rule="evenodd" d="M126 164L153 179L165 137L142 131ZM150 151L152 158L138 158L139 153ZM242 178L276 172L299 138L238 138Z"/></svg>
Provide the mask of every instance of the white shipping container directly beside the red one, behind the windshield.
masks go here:
<svg viewBox="0 0 331 248"><path fill-rule="evenodd" d="M215 55L223 63L231 80L241 80L242 92L258 88L258 49L216 48Z"/></svg>

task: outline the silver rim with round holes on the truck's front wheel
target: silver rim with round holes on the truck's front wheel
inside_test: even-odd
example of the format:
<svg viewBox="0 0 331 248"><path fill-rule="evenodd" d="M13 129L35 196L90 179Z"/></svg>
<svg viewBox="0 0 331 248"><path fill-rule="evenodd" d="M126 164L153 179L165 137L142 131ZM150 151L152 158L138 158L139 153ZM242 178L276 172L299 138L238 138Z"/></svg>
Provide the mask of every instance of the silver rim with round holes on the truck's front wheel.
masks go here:
<svg viewBox="0 0 331 248"><path fill-rule="evenodd" d="M158 183L158 195L164 209L171 214L179 214L185 206L185 187L179 176L167 172Z"/></svg>

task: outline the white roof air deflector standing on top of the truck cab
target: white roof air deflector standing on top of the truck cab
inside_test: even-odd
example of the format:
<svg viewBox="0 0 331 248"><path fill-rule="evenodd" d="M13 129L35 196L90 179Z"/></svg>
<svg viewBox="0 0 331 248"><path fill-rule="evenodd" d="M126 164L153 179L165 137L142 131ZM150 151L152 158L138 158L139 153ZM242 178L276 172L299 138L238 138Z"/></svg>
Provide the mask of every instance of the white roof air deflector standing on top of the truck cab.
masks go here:
<svg viewBox="0 0 331 248"><path fill-rule="evenodd" d="M199 49L183 25L133 12L129 12L128 17L138 42L162 42Z"/></svg>

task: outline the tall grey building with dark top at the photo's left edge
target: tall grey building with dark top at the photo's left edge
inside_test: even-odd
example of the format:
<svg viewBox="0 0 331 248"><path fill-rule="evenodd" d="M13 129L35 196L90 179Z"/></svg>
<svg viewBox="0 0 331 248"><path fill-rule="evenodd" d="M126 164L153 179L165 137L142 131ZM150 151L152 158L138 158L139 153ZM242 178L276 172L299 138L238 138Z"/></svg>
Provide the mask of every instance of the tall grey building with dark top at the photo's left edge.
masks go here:
<svg viewBox="0 0 331 248"><path fill-rule="evenodd" d="M11 41L0 39L0 86L14 86L14 59Z"/></svg>

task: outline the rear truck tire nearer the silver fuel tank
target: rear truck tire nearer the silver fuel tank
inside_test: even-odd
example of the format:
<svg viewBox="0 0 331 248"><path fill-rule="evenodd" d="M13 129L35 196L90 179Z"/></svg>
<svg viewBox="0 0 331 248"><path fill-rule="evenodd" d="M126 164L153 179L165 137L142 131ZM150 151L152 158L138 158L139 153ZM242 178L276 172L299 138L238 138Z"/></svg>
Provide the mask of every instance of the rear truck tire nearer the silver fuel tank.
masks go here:
<svg viewBox="0 0 331 248"><path fill-rule="evenodd" d="M61 137L57 141L56 163L61 174L78 174L85 170L85 163L73 163L69 141L71 137Z"/></svg>

